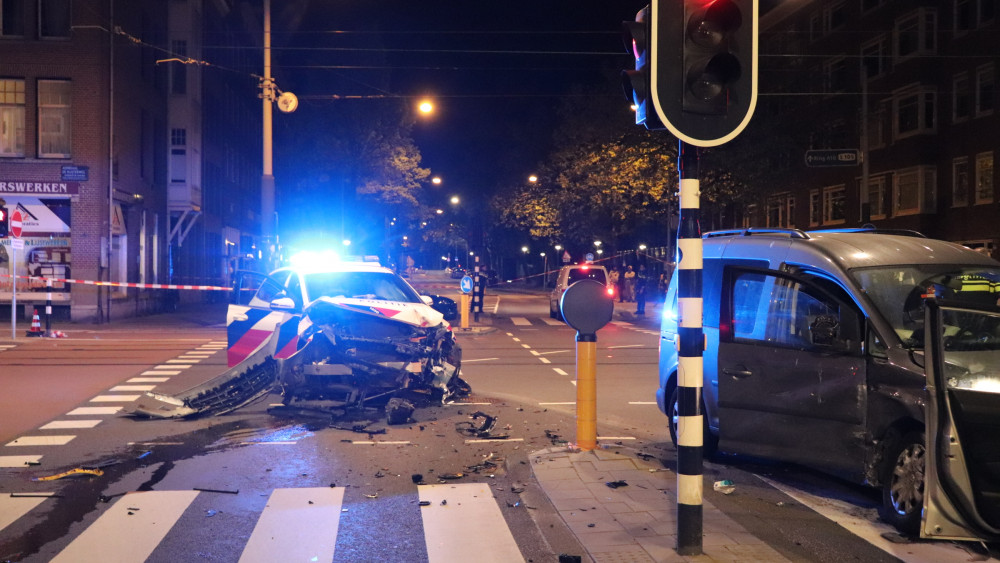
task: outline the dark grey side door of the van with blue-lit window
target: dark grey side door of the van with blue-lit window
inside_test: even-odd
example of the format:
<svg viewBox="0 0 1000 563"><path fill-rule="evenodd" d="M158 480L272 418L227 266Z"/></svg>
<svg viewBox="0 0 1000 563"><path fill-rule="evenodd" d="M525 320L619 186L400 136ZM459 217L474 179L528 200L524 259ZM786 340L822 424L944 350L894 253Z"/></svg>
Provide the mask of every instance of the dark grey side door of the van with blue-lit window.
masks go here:
<svg viewBox="0 0 1000 563"><path fill-rule="evenodd" d="M866 412L859 311L827 280L735 267L724 276L720 449L856 471Z"/></svg>

